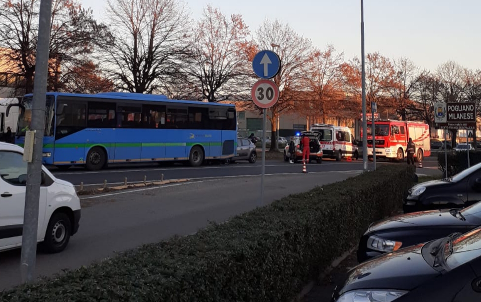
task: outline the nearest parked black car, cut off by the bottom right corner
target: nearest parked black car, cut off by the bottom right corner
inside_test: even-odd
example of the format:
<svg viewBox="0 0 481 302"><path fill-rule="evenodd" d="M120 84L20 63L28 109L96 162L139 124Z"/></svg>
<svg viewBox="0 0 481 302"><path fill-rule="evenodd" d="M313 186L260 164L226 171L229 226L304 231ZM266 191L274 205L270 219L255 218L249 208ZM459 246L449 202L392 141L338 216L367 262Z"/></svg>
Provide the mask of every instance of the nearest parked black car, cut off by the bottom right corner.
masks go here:
<svg viewBox="0 0 481 302"><path fill-rule="evenodd" d="M481 301L481 228L406 247L349 271L335 302Z"/></svg>

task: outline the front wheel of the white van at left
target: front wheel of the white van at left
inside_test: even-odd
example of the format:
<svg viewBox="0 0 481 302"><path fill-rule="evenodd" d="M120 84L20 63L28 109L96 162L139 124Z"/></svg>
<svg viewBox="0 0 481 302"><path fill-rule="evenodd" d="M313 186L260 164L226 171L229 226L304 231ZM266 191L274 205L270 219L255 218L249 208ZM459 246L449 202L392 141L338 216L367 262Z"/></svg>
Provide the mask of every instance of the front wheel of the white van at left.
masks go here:
<svg viewBox="0 0 481 302"><path fill-rule="evenodd" d="M70 240L72 223L67 214L55 213L47 226L45 240L42 243L46 252L58 253L65 249Z"/></svg>

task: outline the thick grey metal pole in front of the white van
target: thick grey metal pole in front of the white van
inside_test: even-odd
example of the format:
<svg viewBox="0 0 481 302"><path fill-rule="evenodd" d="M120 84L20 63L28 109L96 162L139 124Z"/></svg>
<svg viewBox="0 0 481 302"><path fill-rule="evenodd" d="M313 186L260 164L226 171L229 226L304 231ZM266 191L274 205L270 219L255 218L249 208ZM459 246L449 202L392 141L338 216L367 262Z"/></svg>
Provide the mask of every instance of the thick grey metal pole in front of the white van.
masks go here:
<svg viewBox="0 0 481 302"><path fill-rule="evenodd" d="M37 251L38 204L42 173L43 131L45 128L45 107L47 74L50 44L50 19L52 0L40 1L38 20L37 55L35 59L35 79L33 82L31 129L25 139L25 149L32 148L27 161L27 187L25 194L24 225L22 233L22 255L20 272L22 282L32 282ZM27 140L33 134L34 139ZM24 156L25 158L25 156Z"/></svg>

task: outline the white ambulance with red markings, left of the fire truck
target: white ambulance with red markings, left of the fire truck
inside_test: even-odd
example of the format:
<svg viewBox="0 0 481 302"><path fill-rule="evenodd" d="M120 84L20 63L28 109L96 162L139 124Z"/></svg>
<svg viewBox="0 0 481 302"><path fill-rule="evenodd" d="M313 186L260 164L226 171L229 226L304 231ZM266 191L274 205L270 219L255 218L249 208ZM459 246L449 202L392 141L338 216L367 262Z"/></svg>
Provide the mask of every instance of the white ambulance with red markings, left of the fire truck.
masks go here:
<svg viewBox="0 0 481 302"><path fill-rule="evenodd" d="M311 131L320 132L319 139L324 158L335 158L340 161L346 155L355 159L359 158L359 153L354 147L356 140L348 127L334 126L332 124L312 124Z"/></svg>

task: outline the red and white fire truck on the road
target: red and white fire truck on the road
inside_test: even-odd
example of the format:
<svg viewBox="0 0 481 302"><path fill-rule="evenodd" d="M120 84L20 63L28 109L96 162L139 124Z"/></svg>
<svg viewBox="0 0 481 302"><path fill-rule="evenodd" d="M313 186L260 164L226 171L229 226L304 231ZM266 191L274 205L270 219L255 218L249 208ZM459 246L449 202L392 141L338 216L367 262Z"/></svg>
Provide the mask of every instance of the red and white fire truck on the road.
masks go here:
<svg viewBox="0 0 481 302"><path fill-rule="evenodd" d="M431 155L429 125L421 121L375 121L376 158L403 160L409 138L416 144L414 157L421 160ZM362 137L362 133L361 133ZM367 156L372 158L372 124L367 122Z"/></svg>

